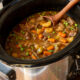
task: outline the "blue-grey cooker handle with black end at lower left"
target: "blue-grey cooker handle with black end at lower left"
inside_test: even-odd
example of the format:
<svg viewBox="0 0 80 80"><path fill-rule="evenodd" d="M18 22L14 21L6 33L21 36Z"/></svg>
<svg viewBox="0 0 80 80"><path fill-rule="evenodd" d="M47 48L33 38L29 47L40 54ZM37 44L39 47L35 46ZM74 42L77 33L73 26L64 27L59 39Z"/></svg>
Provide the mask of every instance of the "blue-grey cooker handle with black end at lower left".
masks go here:
<svg viewBox="0 0 80 80"><path fill-rule="evenodd" d="M0 62L0 71L7 75L9 80L16 80L16 73L13 69Z"/></svg>

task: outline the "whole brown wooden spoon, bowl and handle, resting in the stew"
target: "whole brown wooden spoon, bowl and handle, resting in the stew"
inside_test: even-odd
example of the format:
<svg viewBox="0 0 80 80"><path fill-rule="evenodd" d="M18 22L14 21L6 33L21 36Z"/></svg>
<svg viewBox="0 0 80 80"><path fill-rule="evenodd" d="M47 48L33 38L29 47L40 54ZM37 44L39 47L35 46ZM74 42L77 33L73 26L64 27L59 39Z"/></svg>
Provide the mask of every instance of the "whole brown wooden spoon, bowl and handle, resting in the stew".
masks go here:
<svg viewBox="0 0 80 80"><path fill-rule="evenodd" d="M56 23L63 17L63 15L69 11L75 4L77 4L80 0L71 0L59 13L57 13L54 16L43 16L44 18L47 18L51 20L53 23L53 26L56 25Z"/></svg>

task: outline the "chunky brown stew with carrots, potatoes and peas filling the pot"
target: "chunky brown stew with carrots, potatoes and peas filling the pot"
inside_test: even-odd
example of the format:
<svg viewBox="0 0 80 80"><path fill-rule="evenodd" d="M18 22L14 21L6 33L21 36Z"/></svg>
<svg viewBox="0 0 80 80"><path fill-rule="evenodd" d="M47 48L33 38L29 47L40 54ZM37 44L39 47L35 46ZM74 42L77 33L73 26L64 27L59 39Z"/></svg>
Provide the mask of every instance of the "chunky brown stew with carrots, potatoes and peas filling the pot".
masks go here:
<svg viewBox="0 0 80 80"><path fill-rule="evenodd" d="M16 25L5 44L7 53L19 59L36 60L56 54L70 44L77 34L77 24L67 15L55 26L43 18L56 13L36 13Z"/></svg>

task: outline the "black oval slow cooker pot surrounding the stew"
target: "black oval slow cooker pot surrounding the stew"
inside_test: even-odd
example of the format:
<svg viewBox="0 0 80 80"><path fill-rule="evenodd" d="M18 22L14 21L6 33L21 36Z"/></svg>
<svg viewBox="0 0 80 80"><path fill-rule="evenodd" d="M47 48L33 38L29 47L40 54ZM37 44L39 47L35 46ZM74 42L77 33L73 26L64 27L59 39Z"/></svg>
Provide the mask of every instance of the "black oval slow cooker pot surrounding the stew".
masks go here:
<svg viewBox="0 0 80 80"><path fill-rule="evenodd" d="M20 60L9 56L4 48L9 32L25 17L44 10L59 11L67 3L68 0L22 0L19 2L12 1L6 5L0 12L0 59L9 65L40 67L61 60L68 55L76 55L80 49L80 8L77 5L74 6L67 15L71 16L78 23L78 34L74 41L63 50L38 60Z"/></svg>

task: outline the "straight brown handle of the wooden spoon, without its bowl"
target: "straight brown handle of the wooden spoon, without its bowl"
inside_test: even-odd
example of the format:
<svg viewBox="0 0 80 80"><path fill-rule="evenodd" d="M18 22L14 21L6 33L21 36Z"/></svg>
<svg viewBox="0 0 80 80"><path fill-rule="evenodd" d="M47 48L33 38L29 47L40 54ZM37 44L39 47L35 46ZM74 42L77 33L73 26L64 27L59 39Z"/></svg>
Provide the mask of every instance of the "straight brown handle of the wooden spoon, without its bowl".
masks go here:
<svg viewBox="0 0 80 80"><path fill-rule="evenodd" d="M80 0L71 0L66 7L64 7L58 14L54 16L54 20L58 21L62 16L69 11L75 4L77 4Z"/></svg>

